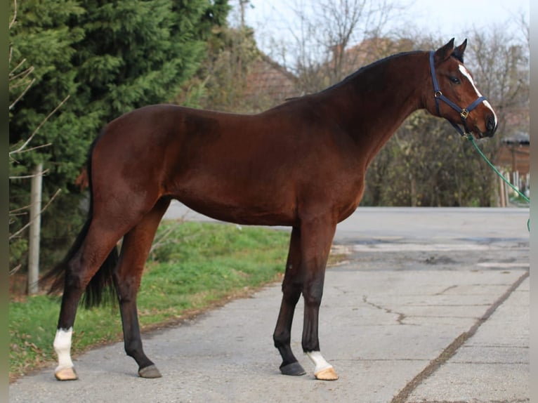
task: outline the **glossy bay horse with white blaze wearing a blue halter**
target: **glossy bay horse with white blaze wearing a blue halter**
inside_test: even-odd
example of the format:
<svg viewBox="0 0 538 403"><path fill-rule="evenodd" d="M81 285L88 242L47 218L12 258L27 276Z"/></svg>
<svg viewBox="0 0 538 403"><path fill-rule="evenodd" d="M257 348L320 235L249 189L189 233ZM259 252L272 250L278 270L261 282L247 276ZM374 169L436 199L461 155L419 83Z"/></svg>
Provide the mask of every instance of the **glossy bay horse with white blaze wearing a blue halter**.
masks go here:
<svg viewBox="0 0 538 403"><path fill-rule="evenodd" d="M70 357L77 305L84 291L87 305L100 303L107 286L117 293L125 350L138 374L161 376L143 352L136 294L171 199L218 220L292 227L273 335L280 370L305 373L290 347L302 294L303 351L316 378L338 378L318 341L324 271L336 224L360 202L368 164L421 108L476 137L493 136L497 128L494 110L463 65L465 48L466 41L454 48L452 39L437 51L393 55L260 114L152 105L107 124L88 159L86 225L65 260L46 275L55 279L52 289L63 286L56 378L77 378Z"/></svg>

